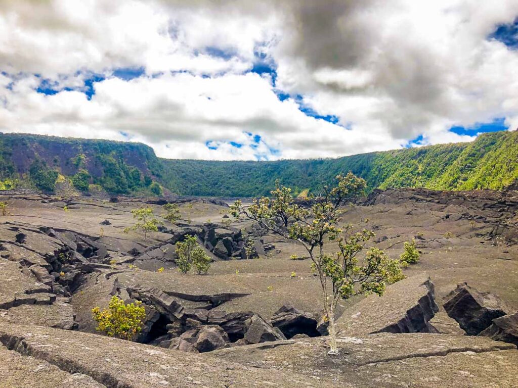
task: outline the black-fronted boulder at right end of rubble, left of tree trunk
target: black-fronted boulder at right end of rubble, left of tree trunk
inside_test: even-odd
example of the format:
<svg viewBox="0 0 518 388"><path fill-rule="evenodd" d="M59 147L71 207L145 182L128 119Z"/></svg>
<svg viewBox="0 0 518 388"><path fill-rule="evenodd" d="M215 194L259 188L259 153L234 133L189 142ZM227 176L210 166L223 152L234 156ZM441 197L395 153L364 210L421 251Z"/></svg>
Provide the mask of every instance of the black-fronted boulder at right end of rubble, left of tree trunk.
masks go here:
<svg viewBox="0 0 518 388"><path fill-rule="evenodd" d="M286 338L296 334L306 334L309 337L318 337L320 333L316 330L316 319L311 315L297 310L292 305L284 305L277 310L270 323L278 327Z"/></svg>

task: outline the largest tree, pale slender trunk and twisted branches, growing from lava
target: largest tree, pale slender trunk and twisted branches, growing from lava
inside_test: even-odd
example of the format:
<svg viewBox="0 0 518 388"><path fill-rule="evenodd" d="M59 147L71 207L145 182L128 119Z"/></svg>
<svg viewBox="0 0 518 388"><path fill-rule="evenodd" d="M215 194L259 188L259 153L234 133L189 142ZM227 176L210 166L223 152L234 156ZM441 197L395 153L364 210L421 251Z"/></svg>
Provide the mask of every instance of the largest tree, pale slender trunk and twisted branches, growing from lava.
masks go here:
<svg viewBox="0 0 518 388"><path fill-rule="evenodd" d="M352 225L340 228L339 207L361 195L366 182L351 172L338 175L336 180L336 186L325 186L320 196L312 198L313 205L309 208L295 204L292 190L279 185L271 191L271 199L256 199L247 208L239 200L231 206L236 218L255 220L269 231L299 242L308 252L322 286L322 303L329 321L329 354L338 354L335 327L338 301L366 292L382 295L387 283L403 277L400 262L390 259L380 249L370 248L362 260L357 258L374 234L365 229L356 232ZM324 243L328 241L338 243L337 253L324 251Z"/></svg>

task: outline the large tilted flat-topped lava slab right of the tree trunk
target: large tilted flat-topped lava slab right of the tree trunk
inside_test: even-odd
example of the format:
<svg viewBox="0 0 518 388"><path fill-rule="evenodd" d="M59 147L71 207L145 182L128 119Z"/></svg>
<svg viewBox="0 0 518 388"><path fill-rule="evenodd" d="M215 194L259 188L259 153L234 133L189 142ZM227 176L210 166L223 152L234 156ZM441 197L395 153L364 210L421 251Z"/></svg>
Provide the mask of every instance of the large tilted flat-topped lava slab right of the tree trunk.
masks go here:
<svg viewBox="0 0 518 388"><path fill-rule="evenodd" d="M369 295L337 321L339 335L373 333L428 333L428 321L439 310L434 284L427 275L400 280L383 296Z"/></svg>

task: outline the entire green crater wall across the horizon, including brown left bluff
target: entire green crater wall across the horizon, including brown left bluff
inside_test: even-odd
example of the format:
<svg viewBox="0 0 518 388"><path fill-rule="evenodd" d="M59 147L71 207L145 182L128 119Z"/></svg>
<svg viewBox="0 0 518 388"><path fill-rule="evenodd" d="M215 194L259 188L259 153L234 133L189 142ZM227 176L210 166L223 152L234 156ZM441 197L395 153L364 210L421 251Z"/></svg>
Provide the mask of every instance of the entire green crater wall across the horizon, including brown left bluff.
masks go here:
<svg viewBox="0 0 518 388"><path fill-rule="evenodd" d="M179 195L253 197L266 195L276 180L296 192L317 190L348 171L369 189L501 189L518 179L518 131L484 133L471 143L271 162L161 159L138 143L0 134L0 182L50 192L60 173L80 191L95 184L110 193L157 194L163 187Z"/></svg>

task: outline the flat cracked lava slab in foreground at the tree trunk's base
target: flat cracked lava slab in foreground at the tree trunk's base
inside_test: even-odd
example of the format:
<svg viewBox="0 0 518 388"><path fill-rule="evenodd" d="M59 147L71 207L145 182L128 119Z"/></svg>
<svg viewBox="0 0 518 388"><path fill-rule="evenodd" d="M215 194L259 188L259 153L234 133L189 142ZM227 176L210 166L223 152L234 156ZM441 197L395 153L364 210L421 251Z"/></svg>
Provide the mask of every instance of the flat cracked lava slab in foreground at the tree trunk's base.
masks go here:
<svg viewBox="0 0 518 388"><path fill-rule="evenodd" d="M320 338L217 350L214 356L255 369L295 371L315 387L332 376L342 387L513 387L518 352L512 344L459 335L379 333L338 338L329 357ZM314 379L314 380L313 380ZM322 379L322 380L320 380Z"/></svg>

